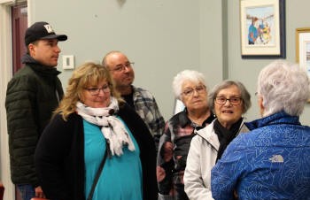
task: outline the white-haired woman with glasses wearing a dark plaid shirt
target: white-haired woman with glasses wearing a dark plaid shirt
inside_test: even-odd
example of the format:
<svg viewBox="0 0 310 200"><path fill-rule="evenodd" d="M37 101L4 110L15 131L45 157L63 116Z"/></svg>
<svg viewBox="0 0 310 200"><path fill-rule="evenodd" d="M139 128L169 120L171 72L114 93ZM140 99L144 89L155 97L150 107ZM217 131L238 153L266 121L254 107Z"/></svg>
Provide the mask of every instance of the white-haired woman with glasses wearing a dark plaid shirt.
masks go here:
<svg viewBox="0 0 310 200"><path fill-rule="evenodd" d="M174 95L185 105L182 112L167 121L159 141L157 180L159 199L189 199L184 192L183 174L194 130L210 124L213 112L207 104L202 73L184 70L174 77Z"/></svg>

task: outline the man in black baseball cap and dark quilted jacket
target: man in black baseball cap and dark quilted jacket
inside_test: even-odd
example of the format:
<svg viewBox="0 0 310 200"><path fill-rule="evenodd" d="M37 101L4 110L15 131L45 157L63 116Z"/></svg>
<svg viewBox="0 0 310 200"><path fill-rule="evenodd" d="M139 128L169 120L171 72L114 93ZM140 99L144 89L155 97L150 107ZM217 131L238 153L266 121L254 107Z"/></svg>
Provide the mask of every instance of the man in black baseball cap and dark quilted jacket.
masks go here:
<svg viewBox="0 0 310 200"><path fill-rule="evenodd" d="M35 174L35 146L64 94L58 79L60 72L55 66L60 53L58 41L66 39L66 35L57 35L47 22L35 22L28 27L27 53L21 58L25 66L7 86L5 108L11 179L22 200L44 197Z"/></svg>

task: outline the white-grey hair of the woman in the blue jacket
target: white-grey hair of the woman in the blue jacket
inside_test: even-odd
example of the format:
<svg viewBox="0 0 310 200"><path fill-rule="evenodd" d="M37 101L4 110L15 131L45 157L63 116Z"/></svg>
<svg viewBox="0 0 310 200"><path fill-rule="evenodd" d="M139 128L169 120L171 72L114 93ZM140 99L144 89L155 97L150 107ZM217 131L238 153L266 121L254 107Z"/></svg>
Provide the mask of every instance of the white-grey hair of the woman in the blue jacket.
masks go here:
<svg viewBox="0 0 310 200"><path fill-rule="evenodd" d="M281 111L299 116L310 94L306 70L297 64L275 60L261 70L258 94L263 98L263 117Z"/></svg>

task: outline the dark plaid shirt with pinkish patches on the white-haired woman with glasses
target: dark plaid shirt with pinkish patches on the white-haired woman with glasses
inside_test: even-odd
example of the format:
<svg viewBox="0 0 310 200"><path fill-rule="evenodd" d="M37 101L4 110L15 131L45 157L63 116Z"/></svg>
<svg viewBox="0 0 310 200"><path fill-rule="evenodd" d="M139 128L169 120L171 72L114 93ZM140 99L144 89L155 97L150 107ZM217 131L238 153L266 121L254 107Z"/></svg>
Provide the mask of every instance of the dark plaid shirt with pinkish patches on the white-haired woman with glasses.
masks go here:
<svg viewBox="0 0 310 200"><path fill-rule="evenodd" d="M165 171L165 177L158 180L160 199L189 199L184 192L183 175L190 142L195 135L194 130L207 126L213 119L215 118L211 113L199 127L190 121L184 109L167 121L164 134L160 137L157 159L158 168Z"/></svg>

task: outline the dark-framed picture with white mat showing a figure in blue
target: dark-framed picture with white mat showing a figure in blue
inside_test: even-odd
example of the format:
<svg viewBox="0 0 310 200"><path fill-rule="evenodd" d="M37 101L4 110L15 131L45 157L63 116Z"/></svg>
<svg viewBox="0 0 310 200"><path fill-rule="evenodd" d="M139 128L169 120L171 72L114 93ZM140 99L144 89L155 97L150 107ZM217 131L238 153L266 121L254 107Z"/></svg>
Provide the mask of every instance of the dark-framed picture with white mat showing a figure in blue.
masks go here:
<svg viewBox="0 0 310 200"><path fill-rule="evenodd" d="M286 58L285 0L240 0L241 57Z"/></svg>

